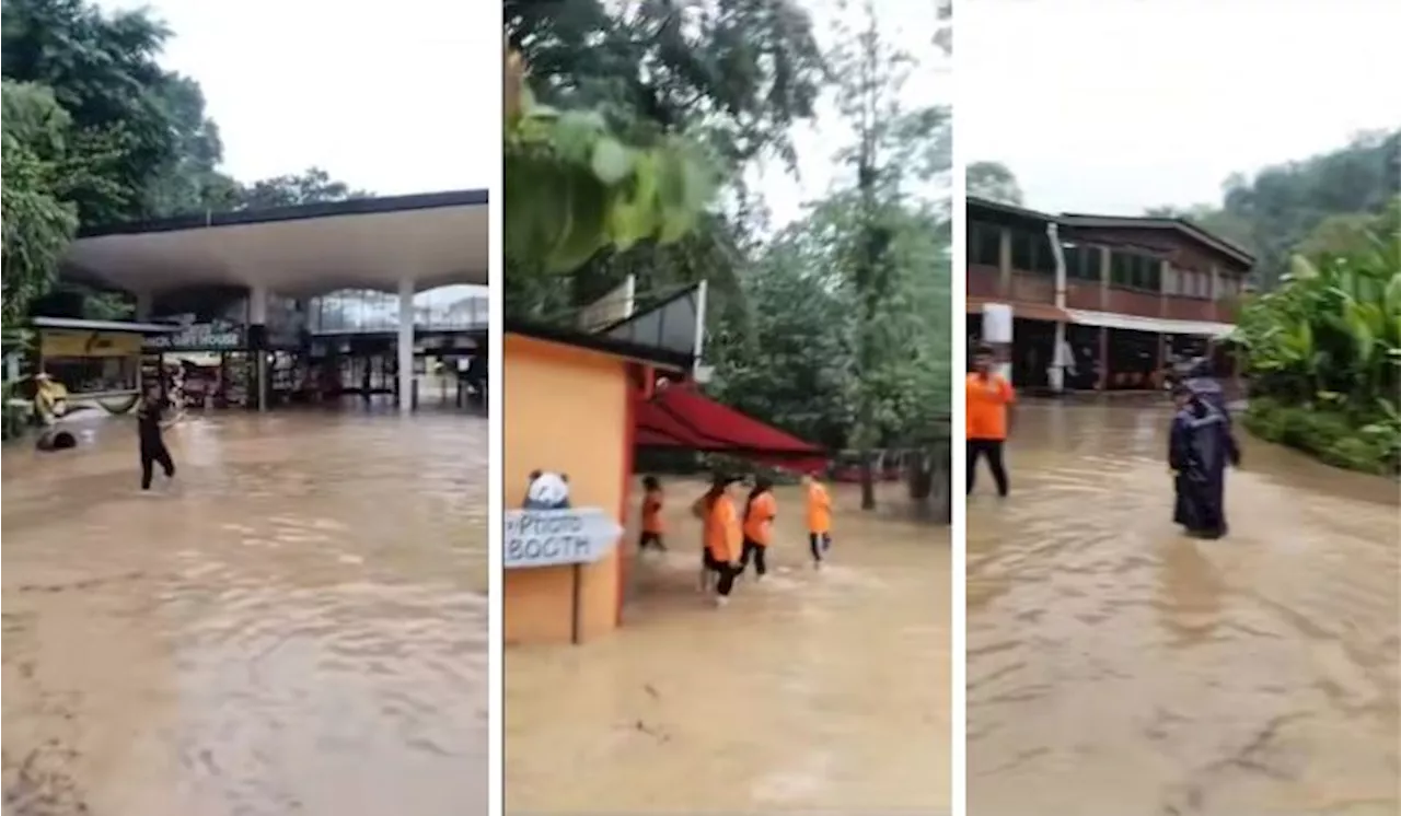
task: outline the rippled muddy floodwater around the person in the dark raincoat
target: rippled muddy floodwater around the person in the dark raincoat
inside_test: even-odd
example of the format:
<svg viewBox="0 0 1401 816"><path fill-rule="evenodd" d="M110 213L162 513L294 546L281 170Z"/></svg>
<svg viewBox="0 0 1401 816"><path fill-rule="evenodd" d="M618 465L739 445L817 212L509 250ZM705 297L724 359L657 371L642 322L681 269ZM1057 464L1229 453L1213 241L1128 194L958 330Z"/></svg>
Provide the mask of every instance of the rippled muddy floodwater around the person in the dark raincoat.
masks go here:
<svg viewBox="0 0 1401 816"><path fill-rule="evenodd" d="M968 812L1394 816L1397 486L1247 439L1185 539L1167 421L1027 406L969 502Z"/></svg>

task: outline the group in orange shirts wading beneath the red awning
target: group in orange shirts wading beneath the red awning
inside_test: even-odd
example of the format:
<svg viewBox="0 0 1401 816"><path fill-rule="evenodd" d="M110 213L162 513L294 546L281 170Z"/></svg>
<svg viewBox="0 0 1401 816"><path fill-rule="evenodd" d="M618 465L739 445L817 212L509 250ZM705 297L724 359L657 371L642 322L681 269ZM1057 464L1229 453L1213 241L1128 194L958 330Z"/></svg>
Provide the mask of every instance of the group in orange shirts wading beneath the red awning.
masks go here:
<svg viewBox="0 0 1401 816"><path fill-rule="evenodd" d="M700 519L700 589L715 592L717 606L724 606L734 591L734 582L754 564L755 579L768 574L768 549L773 543L773 519L778 500L773 481L757 476L748 497L738 484L743 479L716 473L710 488L691 505L691 514ZM665 526L661 518L664 495L656 476L642 480L642 535L639 550L665 551ZM832 547L832 498L817 477L803 476L807 504L807 540L813 568L821 568ZM740 512L740 501L744 511Z"/></svg>

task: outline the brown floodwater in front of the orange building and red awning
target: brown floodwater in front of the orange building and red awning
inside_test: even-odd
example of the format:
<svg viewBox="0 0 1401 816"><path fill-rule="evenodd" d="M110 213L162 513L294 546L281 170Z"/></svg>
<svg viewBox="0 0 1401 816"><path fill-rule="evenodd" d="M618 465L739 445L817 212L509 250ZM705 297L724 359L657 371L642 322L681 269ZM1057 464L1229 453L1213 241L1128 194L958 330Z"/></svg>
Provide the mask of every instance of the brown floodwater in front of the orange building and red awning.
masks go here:
<svg viewBox="0 0 1401 816"><path fill-rule="evenodd" d="M769 575L715 609L684 511L703 486L667 490L671 551L636 567L625 626L506 654L509 812L947 812L947 528L862 515L834 486L817 572L780 487Z"/></svg>

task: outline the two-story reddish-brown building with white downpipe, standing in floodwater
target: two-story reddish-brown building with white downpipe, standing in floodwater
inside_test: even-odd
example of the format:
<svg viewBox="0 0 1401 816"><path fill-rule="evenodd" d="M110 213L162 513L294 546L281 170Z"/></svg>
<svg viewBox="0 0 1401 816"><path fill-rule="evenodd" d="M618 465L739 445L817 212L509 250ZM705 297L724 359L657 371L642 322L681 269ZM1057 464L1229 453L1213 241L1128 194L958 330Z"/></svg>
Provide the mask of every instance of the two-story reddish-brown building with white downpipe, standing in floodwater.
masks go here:
<svg viewBox="0 0 1401 816"><path fill-rule="evenodd" d="M1054 365L1066 389L1157 388L1170 358L1212 354L1231 332L1255 260L1174 218L1052 216L975 197L967 213L969 339L985 304L1009 305L1007 363L1033 389L1052 385Z"/></svg>

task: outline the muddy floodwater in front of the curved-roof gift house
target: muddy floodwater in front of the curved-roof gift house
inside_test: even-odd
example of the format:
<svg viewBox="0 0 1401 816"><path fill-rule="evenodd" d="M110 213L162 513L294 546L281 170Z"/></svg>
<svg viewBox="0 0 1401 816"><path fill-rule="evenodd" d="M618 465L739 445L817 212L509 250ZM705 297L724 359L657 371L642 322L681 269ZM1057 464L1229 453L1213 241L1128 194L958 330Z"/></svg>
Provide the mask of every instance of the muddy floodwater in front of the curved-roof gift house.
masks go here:
<svg viewBox="0 0 1401 816"><path fill-rule="evenodd" d="M78 427L0 451L0 812L485 812L485 420Z"/></svg>

